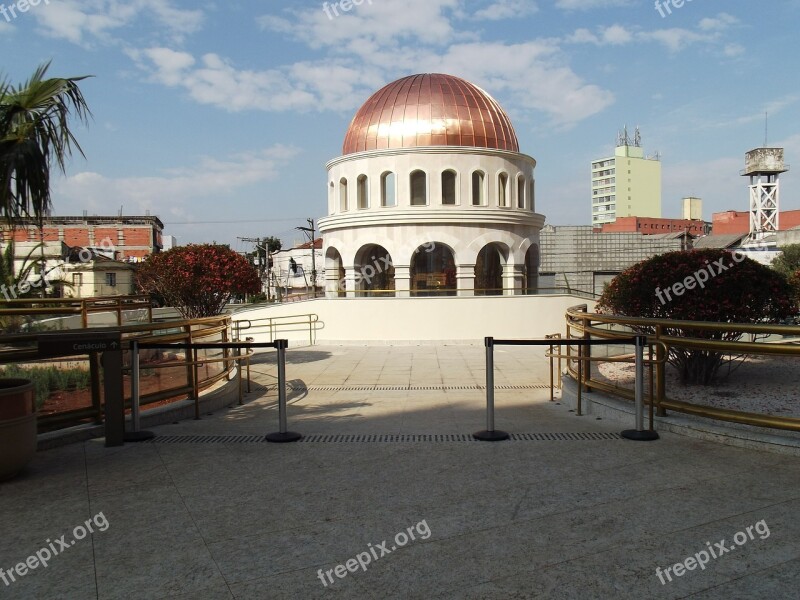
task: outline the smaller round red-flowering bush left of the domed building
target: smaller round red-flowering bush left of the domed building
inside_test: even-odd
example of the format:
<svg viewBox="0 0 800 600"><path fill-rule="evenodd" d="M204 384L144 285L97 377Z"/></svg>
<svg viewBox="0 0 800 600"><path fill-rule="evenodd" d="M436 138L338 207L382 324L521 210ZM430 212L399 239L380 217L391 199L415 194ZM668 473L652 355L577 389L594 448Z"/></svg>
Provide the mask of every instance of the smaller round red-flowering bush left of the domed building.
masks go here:
<svg viewBox="0 0 800 600"><path fill-rule="evenodd" d="M137 287L161 296L186 319L212 317L234 294L261 291L258 270L227 246L190 244L151 254L136 273Z"/></svg>

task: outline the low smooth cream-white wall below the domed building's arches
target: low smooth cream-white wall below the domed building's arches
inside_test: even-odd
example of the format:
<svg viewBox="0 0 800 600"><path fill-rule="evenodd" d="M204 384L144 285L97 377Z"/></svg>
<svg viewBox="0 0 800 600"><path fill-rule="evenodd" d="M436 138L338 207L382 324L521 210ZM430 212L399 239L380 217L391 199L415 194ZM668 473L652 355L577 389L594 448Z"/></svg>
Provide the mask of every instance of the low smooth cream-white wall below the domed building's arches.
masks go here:
<svg viewBox="0 0 800 600"><path fill-rule="evenodd" d="M292 302L243 310L234 320L289 317L313 313L319 317L316 343L432 342L482 343L483 338L542 338L565 333L564 313L570 306L594 303L567 295L440 298L335 298ZM280 319L278 320L280 321ZM269 335L243 332L258 342ZM277 338L309 343L308 327L277 328Z"/></svg>

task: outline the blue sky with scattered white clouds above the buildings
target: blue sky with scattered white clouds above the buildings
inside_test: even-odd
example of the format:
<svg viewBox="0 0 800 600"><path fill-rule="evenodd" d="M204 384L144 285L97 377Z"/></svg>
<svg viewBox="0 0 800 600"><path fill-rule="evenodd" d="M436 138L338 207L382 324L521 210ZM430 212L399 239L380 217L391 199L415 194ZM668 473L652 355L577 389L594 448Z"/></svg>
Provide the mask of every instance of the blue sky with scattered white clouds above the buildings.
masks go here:
<svg viewBox="0 0 800 600"><path fill-rule="evenodd" d="M548 223L589 223L589 163L625 124L661 153L665 217L686 195L708 220L746 210L738 172L765 112L769 144L800 164L800 0L662 1L362 0L339 16L328 2L330 18L317 1L40 0L12 16L0 0L0 70L94 75L86 159L56 179L55 214L149 210L179 243L299 240L325 216L324 165L355 111L421 72L503 105ZM797 181L784 176L784 210Z"/></svg>

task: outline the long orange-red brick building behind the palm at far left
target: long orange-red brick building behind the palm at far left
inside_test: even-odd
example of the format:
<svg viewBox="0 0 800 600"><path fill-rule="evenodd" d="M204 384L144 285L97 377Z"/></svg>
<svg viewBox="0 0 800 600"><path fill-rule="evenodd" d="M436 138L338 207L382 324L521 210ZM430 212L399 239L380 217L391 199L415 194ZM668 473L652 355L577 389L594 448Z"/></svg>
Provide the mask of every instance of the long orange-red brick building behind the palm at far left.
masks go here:
<svg viewBox="0 0 800 600"><path fill-rule="evenodd" d="M140 262L145 256L160 252L164 224L158 217L47 217L44 219L45 242L62 242L69 247L113 247L113 258ZM39 242L42 236L34 220L23 220L11 230L2 225L5 245L13 235L15 242ZM110 240L110 244L109 241Z"/></svg>

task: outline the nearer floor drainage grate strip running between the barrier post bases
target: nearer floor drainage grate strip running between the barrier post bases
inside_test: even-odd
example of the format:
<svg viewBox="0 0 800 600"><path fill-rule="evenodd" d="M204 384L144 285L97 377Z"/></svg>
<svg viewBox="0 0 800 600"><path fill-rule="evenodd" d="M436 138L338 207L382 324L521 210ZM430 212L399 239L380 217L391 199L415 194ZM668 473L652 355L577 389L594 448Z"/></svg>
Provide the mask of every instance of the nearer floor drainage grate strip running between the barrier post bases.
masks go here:
<svg viewBox="0 0 800 600"><path fill-rule="evenodd" d="M512 442L621 440L618 433L512 433ZM300 443L476 442L469 433L330 433L304 436ZM158 435L149 444L260 444L263 435Z"/></svg>

